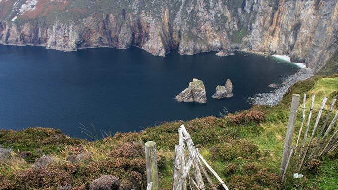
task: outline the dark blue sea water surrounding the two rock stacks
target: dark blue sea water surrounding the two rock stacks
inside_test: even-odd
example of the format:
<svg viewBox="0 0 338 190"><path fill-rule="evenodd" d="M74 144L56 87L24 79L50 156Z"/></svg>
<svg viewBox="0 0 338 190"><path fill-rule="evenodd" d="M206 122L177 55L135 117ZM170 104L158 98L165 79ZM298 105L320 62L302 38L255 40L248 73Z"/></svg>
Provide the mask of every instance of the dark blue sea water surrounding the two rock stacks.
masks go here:
<svg viewBox="0 0 338 190"><path fill-rule="evenodd" d="M136 47L61 52L1 45L0 128L52 127L84 138L78 122L116 132L219 116L223 107L229 112L250 108L249 96L270 91L270 83L298 70L254 54L214 54L173 51L158 57ZM175 102L192 78L204 81L206 104ZM227 79L234 97L212 99L215 87Z"/></svg>

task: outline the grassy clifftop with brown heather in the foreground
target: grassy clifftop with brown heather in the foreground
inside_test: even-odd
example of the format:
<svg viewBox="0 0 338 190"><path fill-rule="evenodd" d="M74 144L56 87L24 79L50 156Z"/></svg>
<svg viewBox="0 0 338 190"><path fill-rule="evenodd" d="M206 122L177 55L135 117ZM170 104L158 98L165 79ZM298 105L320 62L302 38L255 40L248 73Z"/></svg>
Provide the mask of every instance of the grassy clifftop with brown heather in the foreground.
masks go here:
<svg viewBox="0 0 338 190"><path fill-rule="evenodd" d="M225 117L163 123L93 142L70 138L49 128L2 130L0 189L83 190L105 174L119 177L121 189L142 189L146 184L143 144L152 140L158 145L160 187L168 190L181 124L231 189L338 189L337 150L325 157L318 168L309 167L302 179L293 179L290 173L287 183L282 184L278 178L292 93L315 94L316 110L324 96L331 103L338 94L338 75L296 83L274 107L254 106ZM295 136L300 121L298 114Z"/></svg>

